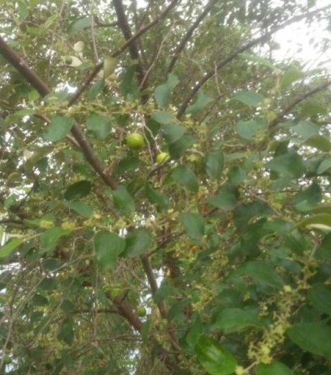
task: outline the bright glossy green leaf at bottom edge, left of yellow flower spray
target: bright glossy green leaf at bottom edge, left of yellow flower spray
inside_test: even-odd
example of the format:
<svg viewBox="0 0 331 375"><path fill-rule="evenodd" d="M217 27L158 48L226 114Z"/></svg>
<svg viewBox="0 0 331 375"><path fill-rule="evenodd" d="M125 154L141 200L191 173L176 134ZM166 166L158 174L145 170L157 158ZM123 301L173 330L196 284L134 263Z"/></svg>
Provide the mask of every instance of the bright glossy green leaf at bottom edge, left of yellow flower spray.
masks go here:
<svg viewBox="0 0 331 375"><path fill-rule="evenodd" d="M201 335L194 347L198 361L210 375L230 375L237 367L237 361L220 343Z"/></svg>

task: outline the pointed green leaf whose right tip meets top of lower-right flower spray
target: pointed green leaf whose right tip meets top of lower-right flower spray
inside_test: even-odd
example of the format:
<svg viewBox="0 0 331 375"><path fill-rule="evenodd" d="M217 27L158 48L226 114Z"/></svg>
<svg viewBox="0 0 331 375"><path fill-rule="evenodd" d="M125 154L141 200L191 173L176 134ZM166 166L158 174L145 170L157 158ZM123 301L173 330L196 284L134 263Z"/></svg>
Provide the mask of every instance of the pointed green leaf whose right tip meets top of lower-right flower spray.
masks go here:
<svg viewBox="0 0 331 375"><path fill-rule="evenodd" d="M243 265L241 265L241 267L234 272L234 275L250 276L259 283L263 283L277 289L280 289L284 285L281 276L277 274L270 263L265 261L249 261L243 263Z"/></svg>

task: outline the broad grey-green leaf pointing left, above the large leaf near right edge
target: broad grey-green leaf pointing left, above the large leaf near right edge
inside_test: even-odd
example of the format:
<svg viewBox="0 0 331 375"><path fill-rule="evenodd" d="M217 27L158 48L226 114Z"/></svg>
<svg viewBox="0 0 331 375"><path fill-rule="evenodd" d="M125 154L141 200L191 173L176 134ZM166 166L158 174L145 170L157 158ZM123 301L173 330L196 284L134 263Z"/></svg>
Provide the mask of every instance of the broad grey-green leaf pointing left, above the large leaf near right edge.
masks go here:
<svg viewBox="0 0 331 375"><path fill-rule="evenodd" d="M305 165L297 153L287 153L274 157L267 163L267 168L278 172L281 176L299 179L305 173Z"/></svg>

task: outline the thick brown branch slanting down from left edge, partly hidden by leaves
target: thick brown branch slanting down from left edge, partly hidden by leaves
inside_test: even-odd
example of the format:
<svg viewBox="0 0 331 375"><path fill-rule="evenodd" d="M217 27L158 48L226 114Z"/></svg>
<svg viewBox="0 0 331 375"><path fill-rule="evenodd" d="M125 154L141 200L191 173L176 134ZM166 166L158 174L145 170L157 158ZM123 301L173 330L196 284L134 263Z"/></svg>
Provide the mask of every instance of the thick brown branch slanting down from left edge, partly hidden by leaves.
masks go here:
<svg viewBox="0 0 331 375"><path fill-rule="evenodd" d="M10 48L10 46L0 37L0 54L12 64L14 68L16 68L22 76L36 89L42 97L45 97L47 94L50 94L50 89L48 86L35 74L28 64L26 64L21 57ZM116 182L112 179L111 176L104 172L105 168L101 161L98 159L97 155L92 150L91 146L86 139L85 134L79 128L77 123L74 123L71 129L71 133L76 139L77 143L81 147L81 151L83 152L86 160L92 168L101 176L101 179L112 188L116 188Z"/></svg>

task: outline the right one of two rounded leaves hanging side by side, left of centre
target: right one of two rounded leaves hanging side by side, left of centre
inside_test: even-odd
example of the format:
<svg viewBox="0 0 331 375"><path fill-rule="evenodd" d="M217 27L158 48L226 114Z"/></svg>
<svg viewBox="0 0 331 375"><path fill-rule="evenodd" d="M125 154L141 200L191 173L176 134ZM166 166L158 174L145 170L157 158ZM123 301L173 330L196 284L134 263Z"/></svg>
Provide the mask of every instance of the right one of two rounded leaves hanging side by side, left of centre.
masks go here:
<svg viewBox="0 0 331 375"><path fill-rule="evenodd" d="M143 227L132 230L126 236L126 250L123 252L123 255L129 258L142 255L148 250L151 243L152 234L150 230Z"/></svg>

